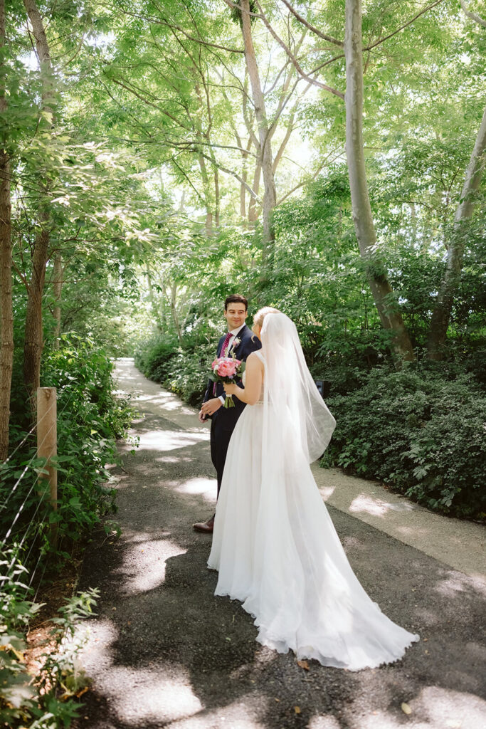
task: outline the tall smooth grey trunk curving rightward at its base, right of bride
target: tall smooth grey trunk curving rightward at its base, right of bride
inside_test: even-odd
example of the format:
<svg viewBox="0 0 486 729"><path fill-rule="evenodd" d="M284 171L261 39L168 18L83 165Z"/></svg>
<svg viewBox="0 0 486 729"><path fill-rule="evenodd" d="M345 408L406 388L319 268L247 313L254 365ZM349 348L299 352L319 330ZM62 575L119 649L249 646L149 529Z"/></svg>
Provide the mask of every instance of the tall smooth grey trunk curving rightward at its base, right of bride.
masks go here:
<svg viewBox="0 0 486 729"><path fill-rule="evenodd" d="M359 252L366 264L367 278L380 320L393 331L393 352L399 359L414 359L412 343L405 329L383 262L376 254L376 232L369 202L363 148L363 52L361 42L361 0L346 0L346 156L354 230Z"/></svg>

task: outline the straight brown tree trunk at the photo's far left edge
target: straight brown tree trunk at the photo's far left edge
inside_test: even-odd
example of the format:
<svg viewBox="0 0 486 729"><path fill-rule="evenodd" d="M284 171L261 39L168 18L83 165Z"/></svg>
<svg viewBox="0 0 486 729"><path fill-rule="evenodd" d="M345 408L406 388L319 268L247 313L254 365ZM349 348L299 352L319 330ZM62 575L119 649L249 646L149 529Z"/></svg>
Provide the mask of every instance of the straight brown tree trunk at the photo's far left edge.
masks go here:
<svg viewBox="0 0 486 729"><path fill-rule="evenodd" d="M5 82L7 69L3 63L5 48L5 0L0 0L0 114L7 112ZM9 451L10 389L14 351L12 310L12 238L10 215L10 160L7 139L0 140L0 461Z"/></svg>

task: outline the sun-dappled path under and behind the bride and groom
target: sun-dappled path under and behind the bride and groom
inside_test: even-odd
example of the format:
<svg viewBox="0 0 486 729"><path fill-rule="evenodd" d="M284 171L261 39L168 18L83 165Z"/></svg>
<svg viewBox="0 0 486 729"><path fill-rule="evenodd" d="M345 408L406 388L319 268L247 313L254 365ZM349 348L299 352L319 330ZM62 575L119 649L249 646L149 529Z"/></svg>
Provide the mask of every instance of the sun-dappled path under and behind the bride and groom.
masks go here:
<svg viewBox="0 0 486 729"><path fill-rule="evenodd" d="M87 625L90 633L82 663L93 688L75 729L485 725L486 588L477 556L460 572L447 564L445 548L439 561L423 545L412 546L417 524L429 541L426 520L416 521L416 510L409 519L408 502L395 502L386 491L362 491L363 484L372 490L376 484L358 484L365 493L358 501L350 486L347 496L339 489L342 503L333 507L337 480L321 470L326 483L320 486L353 569L384 612L422 640L401 661L375 670L351 673L314 662L309 671L299 668L294 655L255 642L256 628L237 601L213 596L216 574L205 566L211 537L191 528L213 510L208 427L129 360L119 362L118 374L120 389L139 396L133 434L140 445L135 452L121 446L116 518L122 535L99 534L85 557L79 587L100 588L101 599L98 615L80 628ZM367 523L372 518L376 526ZM404 526L402 539L386 533ZM469 526L477 525L462 530L455 523L455 537L444 531L443 542L474 541Z"/></svg>

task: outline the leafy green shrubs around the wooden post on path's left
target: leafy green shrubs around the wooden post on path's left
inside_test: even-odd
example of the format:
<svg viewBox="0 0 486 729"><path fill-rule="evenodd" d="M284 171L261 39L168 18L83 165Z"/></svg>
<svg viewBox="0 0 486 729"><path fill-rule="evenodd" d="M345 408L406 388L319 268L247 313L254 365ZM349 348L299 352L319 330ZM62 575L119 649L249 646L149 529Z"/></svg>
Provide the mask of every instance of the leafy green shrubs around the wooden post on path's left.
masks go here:
<svg viewBox="0 0 486 729"><path fill-rule="evenodd" d="M50 509L46 486L39 480L44 461L36 458L30 438L0 467L2 500L8 496L7 507L0 511L1 533L7 533L17 515L10 539L15 543L22 538L29 554L34 546L34 554L50 553L52 524L67 545L116 508L109 466L118 461L115 439L124 434L133 410L127 400L115 396L112 371L113 362L103 350L74 335L64 335L60 349L44 356L42 386L55 387L58 393L57 511ZM22 398L23 385L15 379L12 402L19 441ZM64 558L66 552L58 551L59 564Z"/></svg>

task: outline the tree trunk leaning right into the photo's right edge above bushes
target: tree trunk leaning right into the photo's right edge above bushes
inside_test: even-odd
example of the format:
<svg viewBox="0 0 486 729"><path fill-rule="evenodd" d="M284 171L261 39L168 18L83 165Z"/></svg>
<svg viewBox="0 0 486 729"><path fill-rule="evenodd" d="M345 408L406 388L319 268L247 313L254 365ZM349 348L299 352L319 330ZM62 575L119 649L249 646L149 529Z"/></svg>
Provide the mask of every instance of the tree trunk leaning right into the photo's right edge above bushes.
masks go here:
<svg viewBox="0 0 486 729"><path fill-rule="evenodd" d="M460 193L460 203L455 211L452 240L447 250L447 268L444 280L439 289L436 305L431 317L428 332L427 354L429 359L442 359L444 344L449 326L450 313L454 303L455 292L460 283L460 272L463 268L464 246L466 243L464 224L471 219L474 211L475 193L479 188L482 173L486 165L486 109L477 133L476 144L469 160Z"/></svg>

